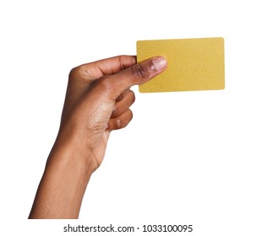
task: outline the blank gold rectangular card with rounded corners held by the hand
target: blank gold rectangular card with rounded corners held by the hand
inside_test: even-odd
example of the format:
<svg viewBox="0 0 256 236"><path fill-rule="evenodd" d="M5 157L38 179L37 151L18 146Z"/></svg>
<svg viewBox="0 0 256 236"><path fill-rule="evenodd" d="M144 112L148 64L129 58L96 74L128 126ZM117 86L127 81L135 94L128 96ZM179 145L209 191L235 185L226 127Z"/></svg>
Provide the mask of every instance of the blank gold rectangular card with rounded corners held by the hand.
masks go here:
<svg viewBox="0 0 256 236"><path fill-rule="evenodd" d="M137 41L138 62L154 56L164 56L168 67L140 84L140 93L225 88L223 38Z"/></svg>

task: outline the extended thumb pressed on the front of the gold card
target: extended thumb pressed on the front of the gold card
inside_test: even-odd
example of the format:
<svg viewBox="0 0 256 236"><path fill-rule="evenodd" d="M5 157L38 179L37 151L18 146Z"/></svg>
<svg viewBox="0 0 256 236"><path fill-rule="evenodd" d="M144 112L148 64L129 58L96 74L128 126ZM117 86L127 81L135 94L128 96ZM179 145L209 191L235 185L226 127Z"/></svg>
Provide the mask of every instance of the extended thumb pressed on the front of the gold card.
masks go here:
<svg viewBox="0 0 256 236"><path fill-rule="evenodd" d="M111 99L117 99L120 94L135 84L149 81L163 72L166 67L166 59L162 56L156 56L128 67L121 72L107 76L105 82L108 83L108 88L111 88L109 89Z"/></svg>

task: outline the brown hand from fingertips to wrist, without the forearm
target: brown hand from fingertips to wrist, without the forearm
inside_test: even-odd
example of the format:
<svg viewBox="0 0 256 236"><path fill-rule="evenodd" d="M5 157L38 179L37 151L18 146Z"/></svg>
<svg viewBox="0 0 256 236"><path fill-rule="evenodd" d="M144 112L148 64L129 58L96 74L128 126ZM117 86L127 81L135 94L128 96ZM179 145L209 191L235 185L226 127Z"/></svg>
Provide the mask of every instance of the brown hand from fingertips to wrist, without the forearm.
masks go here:
<svg viewBox="0 0 256 236"><path fill-rule="evenodd" d="M136 64L135 56L116 56L75 67L69 74L58 139L73 140L76 150L90 158L87 163L94 171L102 162L110 132L132 120L129 107L135 97L130 87L150 80L165 68L162 57Z"/></svg>

